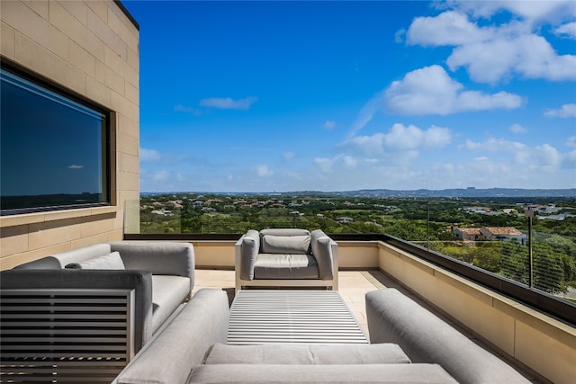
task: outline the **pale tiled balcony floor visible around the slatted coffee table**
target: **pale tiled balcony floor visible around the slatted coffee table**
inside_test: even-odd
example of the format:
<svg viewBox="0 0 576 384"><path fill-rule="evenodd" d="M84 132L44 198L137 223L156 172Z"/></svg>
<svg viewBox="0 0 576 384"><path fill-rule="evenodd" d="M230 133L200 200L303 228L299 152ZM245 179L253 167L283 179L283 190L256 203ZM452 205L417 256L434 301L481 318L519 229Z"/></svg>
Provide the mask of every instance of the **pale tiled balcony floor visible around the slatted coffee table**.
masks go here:
<svg viewBox="0 0 576 384"><path fill-rule="evenodd" d="M229 294L230 303L234 299L234 285L235 276L234 271L226 270L208 270L208 269L196 269L195 272L195 283L193 292L201 290L202 288L213 288L219 290L226 290ZM543 378L537 378L536 375L530 372L526 367L518 366L517 362L512 362L505 356L502 356L498 351L496 351L491 345L485 344L482 340L475 337L469 330L455 324L450 318L446 317L444 314L440 313L437 308L431 307L428 303L422 301L418 297L410 293L397 281L394 281L391 277L385 273L377 270L370 271L340 271L338 272L338 292L342 299L347 303L348 308L352 311L358 324L365 332L366 337L369 338L368 324L366 319L366 309L365 309L365 294L371 290L379 290L382 288L395 288L400 290L411 299L417 301L421 306L427 308L429 311L433 312L437 317L441 317L451 326L454 326L462 334L470 338L474 343L479 344L482 348L485 348L491 353L494 353L502 360L506 360L510 365L514 366L518 371L522 372L528 380L533 383L547 383L549 381Z"/></svg>

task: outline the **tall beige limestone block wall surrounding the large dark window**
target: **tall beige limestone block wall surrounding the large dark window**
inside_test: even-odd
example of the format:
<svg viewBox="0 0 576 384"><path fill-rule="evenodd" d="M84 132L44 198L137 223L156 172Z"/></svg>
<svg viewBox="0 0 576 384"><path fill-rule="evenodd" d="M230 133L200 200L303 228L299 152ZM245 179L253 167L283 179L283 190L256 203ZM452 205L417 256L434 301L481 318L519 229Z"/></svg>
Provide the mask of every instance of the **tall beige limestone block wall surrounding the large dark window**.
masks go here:
<svg viewBox="0 0 576 384"><path fill-rule="evenodd" d="M112 112L112 206L0 218L0 269L121 239L139 198L138 24L112 0L2 1L0 19L3 58Z"/></svg>

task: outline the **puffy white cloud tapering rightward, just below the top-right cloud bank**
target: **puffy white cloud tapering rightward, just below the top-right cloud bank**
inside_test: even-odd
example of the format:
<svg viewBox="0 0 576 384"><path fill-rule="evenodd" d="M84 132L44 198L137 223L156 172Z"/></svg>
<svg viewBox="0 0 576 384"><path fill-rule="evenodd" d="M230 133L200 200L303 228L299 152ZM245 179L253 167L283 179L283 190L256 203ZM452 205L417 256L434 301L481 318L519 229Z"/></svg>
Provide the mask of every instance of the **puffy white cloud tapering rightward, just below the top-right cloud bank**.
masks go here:
<svg viewBox="0 0 576 384"><path fill-rule="evenodd" d="M406 74L401 81L393 82L386 89L385 96L391 112L408 115L515 109L523 103L517 94L464 91L464 85L437 65Z"/></svg>

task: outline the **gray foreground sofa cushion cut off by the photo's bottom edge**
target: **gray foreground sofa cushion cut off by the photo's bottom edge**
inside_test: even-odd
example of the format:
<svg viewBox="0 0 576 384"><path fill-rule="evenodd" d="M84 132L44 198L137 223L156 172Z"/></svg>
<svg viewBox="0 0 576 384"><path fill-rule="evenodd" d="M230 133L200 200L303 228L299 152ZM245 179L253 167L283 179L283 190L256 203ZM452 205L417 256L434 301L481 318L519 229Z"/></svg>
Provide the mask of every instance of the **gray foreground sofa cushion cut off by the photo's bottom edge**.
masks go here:
<svg viewBox="0 0 576 384"><path fill-rule="evenodd" d="M193 370L188 382L206 384L457 383L436 364L202 365Z"/></svg>

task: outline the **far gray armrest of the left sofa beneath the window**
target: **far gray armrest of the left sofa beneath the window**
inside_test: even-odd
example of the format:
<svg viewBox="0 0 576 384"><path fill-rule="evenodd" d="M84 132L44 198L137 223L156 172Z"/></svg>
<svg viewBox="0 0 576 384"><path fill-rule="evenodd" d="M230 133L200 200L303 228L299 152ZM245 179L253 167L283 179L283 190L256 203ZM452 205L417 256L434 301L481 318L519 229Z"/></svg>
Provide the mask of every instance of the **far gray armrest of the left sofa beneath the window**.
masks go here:
<svg viewBox="0 0 576 384"><path fill-rule="evenodd" d="M127 270L144 270L152 274L184 276L194 286L194 248L190 243L116 241L110 243L118 251Z"/></svg>

